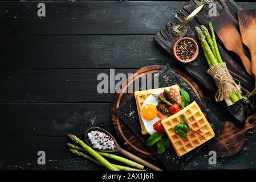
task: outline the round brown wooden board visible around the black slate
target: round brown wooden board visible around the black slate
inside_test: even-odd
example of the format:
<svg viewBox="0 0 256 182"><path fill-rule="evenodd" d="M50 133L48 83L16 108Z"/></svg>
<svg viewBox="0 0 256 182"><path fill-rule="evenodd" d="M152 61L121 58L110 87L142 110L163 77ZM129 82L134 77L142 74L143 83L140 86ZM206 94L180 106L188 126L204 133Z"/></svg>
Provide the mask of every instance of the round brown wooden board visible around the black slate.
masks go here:
<svg viewBox="0 0 256 182"><path fill-rule="evenodd" d="M125 123L121 121L119 117L117 117L117 115L115 114L115 109L133 96L133 93L125 93L125 90L130 84L133 84L133 82L135 82L135 80L138 78L147 76L148 73L157 73L162 68L164 68L164 66L162 65L151 65L137 69L135 72L133 72L133 75L129 76L127 80L124 81L125 85L123 86L123 88L120 89L119 94L115 94L111 106L111 120L115 128L116 135L121 143L123 143L124 146L135 155L149 160L154 160L155 157L148 150L147 146L145 146L145 144L141 142L140 139L138 139L136 135L129 129L129 127L125 125ZM206 105L204 94L202 93L202 90L199 88L196 82L194 82L190 77L188 77L185 73L179 71L178 69L175 69L175 71L178 73L178 76L180 76L181 79L184 80L194 90L198 98L200 98L200 100ZM170 83L170 85L172 84ZM133 92L135 91L133 90Z"/></svg>

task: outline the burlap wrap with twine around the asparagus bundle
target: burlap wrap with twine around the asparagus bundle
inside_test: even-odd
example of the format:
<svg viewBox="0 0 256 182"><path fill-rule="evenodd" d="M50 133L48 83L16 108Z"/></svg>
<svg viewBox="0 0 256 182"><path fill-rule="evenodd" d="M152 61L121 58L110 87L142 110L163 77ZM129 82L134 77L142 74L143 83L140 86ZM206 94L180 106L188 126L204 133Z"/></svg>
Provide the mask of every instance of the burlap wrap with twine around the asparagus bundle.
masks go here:
<svg viewBox="0 0 256 182"><path fill-rule="evenodd" d="M217 102L224 100L225 97L229 97L231 92L242 93L241 86L236 84L229 70L226 67L226 63L220 63L212 65L208 69L207 73L213 77L218 91L216 93L215 99Z"/></svg>

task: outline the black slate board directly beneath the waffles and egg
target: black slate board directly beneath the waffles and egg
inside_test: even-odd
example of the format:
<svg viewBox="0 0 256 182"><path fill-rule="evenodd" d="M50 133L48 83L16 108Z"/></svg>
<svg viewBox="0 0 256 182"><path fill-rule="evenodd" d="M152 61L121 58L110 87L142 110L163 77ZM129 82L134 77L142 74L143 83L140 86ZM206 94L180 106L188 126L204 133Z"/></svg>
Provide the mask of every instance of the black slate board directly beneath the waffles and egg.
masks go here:
<svg viewBox="0 0 256 182"><path fill-rule="evenodd" d="M205 107L200 99L196 96L193 90L186 84L185 81L181 80L178 77L177 73L167 64L165 67L159 72L159 88L166 87L178 84L181 88L184 88L190 96L190 102L196 101L198 105L202 107L202 111L204 111L208 115L208 121L212 124L214 133L218 135L222 130L222 123L218 120L218 118L207 108ZM129 98L127 102L120 105L116 110L116 114L121 118L124 123L129 126L129 128L135 133L137 137L139 137L144 144L147 143L148 135L141 134L141 126L139 122L139 116L137 114L137 106L135 97ZM129 113L129 114L127 114ZM162 154L157 153L156 146L148 146L149 150L153 152L153 154L164 164L164 166L169 170L177 170L180 169L193 155L197 154L198 151L204 147L205 144L202 144L200 147L195 148L190 151L188 154L185 154L178 158L176 152L173 148L166 150Z"/></svg>

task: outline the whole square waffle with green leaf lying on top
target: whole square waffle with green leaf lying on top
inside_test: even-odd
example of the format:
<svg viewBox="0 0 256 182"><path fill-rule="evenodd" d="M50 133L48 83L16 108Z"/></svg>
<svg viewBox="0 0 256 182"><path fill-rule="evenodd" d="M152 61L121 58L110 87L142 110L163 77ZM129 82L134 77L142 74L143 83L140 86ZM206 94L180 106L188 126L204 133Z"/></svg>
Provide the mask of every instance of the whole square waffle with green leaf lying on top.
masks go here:
<svg viewBox="0 0 256 182"><path fill-rule="evenodd" d="M186 117L190 129L193 129L201 136L192 131L188 131L187 137L182 138L175 133L173 128L180 123L182 115ZM178 111L178 113L163 119L161 123L179 157L214 137L212 127L195 101L181 111Z"/></svg>

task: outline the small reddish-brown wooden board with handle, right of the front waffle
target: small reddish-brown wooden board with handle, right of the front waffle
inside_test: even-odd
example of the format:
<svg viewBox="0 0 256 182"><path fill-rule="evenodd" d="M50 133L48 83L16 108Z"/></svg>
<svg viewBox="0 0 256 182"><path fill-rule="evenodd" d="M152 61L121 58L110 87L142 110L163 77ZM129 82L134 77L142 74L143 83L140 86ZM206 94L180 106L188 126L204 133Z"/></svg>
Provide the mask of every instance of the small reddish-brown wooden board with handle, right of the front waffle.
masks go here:
<svg viewBox="0 0 256 182"><path fill-rule="evenodd" d="M246 118L243 129L238 129L232 122L224 122L224 130L209 144L209 150L216 151L219 158L237 154L245 144L245 132L256 126L256 114Z"/></svg>

